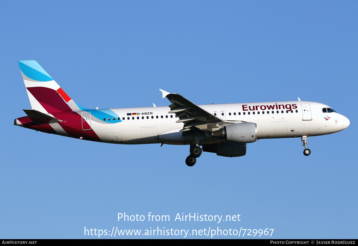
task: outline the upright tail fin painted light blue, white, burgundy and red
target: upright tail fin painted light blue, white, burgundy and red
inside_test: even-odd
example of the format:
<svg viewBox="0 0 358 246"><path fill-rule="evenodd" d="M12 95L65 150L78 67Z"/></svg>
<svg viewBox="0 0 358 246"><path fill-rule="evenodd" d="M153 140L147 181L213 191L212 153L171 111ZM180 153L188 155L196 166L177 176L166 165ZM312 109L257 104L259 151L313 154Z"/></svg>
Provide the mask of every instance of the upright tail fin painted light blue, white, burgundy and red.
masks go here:
<svg viewBox="0 0 358 246"><path fill-rule="evenodd" d="M31 107L42 113L80 110L36 61L18 61Z"/></svg>

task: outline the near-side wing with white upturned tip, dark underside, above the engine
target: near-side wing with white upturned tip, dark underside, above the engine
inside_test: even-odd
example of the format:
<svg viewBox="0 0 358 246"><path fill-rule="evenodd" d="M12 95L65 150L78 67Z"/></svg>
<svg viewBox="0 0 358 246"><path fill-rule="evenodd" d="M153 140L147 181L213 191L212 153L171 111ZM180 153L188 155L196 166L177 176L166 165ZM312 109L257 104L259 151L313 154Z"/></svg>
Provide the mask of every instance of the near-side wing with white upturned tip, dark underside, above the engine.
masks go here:
<svg viewBox="0 0 358 246"><path fill-rule="evenodd" d="M180 131L189 131L196 127L205 132L211 132L218 130L220 125L232 124L210 114L179 94L159 90L163 93L163 98L166 97L173 103L169 105L171 110L168 113L178 116L179 120L176 122L184 122L184 127Z"/></svg>

